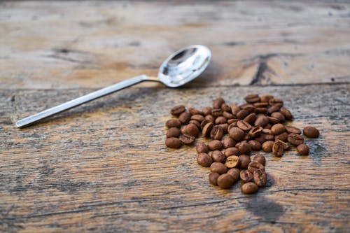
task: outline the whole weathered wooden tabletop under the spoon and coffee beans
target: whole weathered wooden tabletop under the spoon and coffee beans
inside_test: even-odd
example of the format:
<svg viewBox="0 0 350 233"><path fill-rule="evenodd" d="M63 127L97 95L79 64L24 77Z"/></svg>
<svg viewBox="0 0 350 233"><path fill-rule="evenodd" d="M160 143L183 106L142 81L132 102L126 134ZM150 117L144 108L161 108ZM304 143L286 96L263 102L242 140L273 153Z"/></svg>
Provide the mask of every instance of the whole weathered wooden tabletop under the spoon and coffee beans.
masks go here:
<svg viewBox="0 0 350 233"><path fill-rule="evenodd" d="M0 232L349 232L350 4L332 1L0 3ZM16 120L207 45L179 89L143 83L17 129ZM267 157L243 195L168 149L176 104L272 93L314 125L310 155ZM204 141L200 139L199 141Z"/></svg>

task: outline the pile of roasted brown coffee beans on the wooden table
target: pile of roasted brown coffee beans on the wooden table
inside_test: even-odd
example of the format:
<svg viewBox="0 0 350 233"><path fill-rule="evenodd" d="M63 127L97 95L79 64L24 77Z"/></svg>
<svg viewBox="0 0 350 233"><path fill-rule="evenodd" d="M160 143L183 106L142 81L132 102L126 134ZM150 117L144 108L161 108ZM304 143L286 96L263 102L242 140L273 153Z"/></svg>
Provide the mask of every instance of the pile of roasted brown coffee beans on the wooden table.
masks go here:
<svg viewBox="0 0 350 233"><path fill-rule="evenodd" d="M248 94L246 104L230 106L223 98L213 101L202 111L185 106L174 106L170 113L175 118L167 120L169 148L193 145L200 136L209 138L207 144L198 143L197 163L210 167L209 182L221 188L230 188L239 179L243 183L241 192L250 194L267 183L265 157L255 155L252 150L263 150L281 157L291 146L297 146L300 155L309 155L309 147L304 144L304 136L317 138L318 129L286 125L293 115L283 107L283 101L270 94L259 96Z"/></svg>

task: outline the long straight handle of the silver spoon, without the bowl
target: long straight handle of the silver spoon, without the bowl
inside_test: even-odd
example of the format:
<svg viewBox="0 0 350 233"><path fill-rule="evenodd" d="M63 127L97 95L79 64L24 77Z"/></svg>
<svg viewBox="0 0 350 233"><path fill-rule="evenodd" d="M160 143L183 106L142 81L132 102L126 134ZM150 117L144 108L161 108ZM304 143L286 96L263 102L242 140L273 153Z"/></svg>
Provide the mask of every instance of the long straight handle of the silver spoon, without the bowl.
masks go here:
<svg viewBox="0 0 350 233"><path fill-rule="evenodd" d="M120 83L116 83L116 84L111 85L109 87L104 87L104 88L97 90L95 92L91 92L90 94L85 94L82 97L72 99L71 101L68 101L64 104L59 104L53 108L46 109L45 111L42 111L40 113L36 113L34 115L30 115L27 118L23 118L22 120L18 120L18 122L16 122L16 126L18 128L27 127L28 125L31 125L34 122L37 122L38 120L41 120L43 118L47 118L50 115L55 115L56 113L66 111L69 108L73 108L73 107L78 106L80 104L85 104L88 101L92 101L92 100L97 99L99 97L104 97L107 94L111 94L111 93L116 92L118 90L122 90L125 87L130 87L131 85L140 83L144 80L149 80L149 78L146 75L141 75L141 76L137 76L134 78L130 78L130 79L121 81Z"/></svg>

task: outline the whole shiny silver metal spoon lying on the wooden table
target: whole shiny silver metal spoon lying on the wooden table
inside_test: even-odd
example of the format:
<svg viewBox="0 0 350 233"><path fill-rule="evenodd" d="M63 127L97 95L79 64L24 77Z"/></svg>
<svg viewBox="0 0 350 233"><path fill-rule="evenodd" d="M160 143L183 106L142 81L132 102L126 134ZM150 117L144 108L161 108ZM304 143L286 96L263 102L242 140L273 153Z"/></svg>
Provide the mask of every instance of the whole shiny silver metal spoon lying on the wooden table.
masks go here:
<svg viewBox="0 0 350 233"><path fill-rule="evenodd" d="M200 74L207 68L211 60L211 52L209 48L203 45L191 45L183 48L174 54L170 55L160 66L158 77L148 77L146 75L137 76L127 80L123 80L120 83L116 83L109 87L104 87L100 90L85 94L82 97L73 99L64 104L59 104L53 108L46 109L40 113L36 113L22 120L16 122L18 128L27 127L34 122L43 118L48 118L51 115L66 111L70 108L85 104L88 101L92 101L99 97L104 97L107 94L111 94L118 90L122 90L125 87L130 87L137 83L144 81L156 81L163 83L167 87L180 87L191 80L200 76Z"/></svg>

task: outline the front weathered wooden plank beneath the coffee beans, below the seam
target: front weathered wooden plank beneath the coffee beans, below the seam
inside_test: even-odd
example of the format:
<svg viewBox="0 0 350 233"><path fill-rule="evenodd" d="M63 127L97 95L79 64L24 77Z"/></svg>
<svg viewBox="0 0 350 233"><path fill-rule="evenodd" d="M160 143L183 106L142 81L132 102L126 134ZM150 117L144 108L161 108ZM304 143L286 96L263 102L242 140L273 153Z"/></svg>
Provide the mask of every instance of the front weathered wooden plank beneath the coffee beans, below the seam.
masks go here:
<svg viewBox="0 0 350 233"><path fill-rule="evenodd" d="M90 89L1 90L1 232L346 232L349 84L122 90L39 125L13 123ZM309 156L267 156L267 188L242 195L207 181L195 148L168 149L174 104L204 107L250 92L285 99L314 125ZM200 139L202 141L203 139Z"/></svg>

